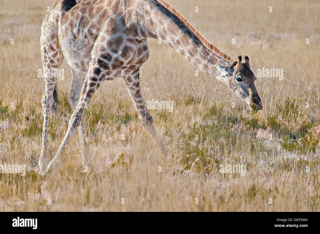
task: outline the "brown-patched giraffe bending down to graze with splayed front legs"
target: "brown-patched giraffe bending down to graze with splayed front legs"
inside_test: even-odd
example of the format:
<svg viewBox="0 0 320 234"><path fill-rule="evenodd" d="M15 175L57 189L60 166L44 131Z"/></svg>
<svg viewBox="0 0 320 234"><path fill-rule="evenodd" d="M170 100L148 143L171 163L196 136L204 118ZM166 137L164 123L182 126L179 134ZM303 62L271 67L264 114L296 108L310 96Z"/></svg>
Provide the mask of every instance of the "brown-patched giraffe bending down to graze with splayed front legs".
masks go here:
<svg viewBox="0 0 320 234"><path fill-rule="evenodd" d="M101 83L117 77L123 77L142 125L164 149L140 89L139 69L149 56L148 37L163 41L201 71L222 81L250 109L263 108L249 57L244 57L244 63L241 55L233 61L164 0L56 0L41 26L42 65L44 71L59 69L66 59L72 73L68 102L73 113L56 155L45 168L48 122L56 102L57 80L54 72L45 72L40 172L46 173L57 165L77 128L82 164L90 165L84 112Z"/></svg>

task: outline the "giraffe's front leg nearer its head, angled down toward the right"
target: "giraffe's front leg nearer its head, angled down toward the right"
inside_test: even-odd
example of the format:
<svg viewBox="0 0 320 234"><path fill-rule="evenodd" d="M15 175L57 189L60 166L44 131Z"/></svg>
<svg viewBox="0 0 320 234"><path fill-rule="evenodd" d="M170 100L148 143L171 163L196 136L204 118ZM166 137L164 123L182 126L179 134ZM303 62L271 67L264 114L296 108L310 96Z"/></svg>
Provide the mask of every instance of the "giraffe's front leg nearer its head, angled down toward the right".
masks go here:
<svg viewBox="0 0 320 234"><path fill-rule="evenodd" d="M129 94L132 98L134 106L137 109L139 119L142 125L147 129L149 134L156 141L157 146L161 151L166 154L164 143L161 140L159 134L157 133L155 126L153 125L152 116L149 114L146 103L143 100L141 89L140 89L140 79L139 79L139 69L130 75L124 77L125 85L129 90Z"/></svg>

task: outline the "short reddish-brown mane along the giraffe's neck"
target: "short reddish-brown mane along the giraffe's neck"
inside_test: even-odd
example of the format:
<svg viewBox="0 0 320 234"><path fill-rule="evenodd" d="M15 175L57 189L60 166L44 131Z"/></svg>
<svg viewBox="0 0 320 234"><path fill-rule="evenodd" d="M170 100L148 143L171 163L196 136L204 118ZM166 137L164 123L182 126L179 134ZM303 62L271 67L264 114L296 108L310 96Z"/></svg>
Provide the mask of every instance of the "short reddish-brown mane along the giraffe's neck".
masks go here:
<svg viewBox="0 0 320 234"><path fill-rule="evenodd" d="M220 56L224 60L228 61L229 63L233 62L233 59L227 55L226 53L222 52L218 47L214 46L207 39L204 38L198 31L188 22L186 18L184 18L176 9L172 7L172 5L166 3L164 0L156 0L158 3L163 5L168 11L170 11L173 15L175 15L181 22L204 44L205 47L210 49L213 53Z"/></svg>

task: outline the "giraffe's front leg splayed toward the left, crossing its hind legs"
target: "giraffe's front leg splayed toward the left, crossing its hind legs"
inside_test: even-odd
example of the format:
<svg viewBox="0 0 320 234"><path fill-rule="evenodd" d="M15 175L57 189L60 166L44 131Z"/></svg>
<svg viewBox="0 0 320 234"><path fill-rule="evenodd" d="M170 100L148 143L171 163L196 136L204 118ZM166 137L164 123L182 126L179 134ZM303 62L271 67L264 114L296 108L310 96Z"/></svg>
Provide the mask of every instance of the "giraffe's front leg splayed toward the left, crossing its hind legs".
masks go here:
<svg viewBox="0 0 320 234"><path fill-rule="evenodd" d="M80 98L79 98L78 104L76 105L76 109L74 110L74 112L70 117L68 130L60 144L60 147L56 155L51 160L51 162L49 162L46 172L52 169L52 167L55 167L57 162L60 161L62 152L65 149L68 141L70 140L72 134L75 132L76 128L79 125L82 125L82 123L84 126L83 117L84 117L85 109L87 108L92 95L94 94L94 92L97 90L97 88L100 86L100 84L104 79L105 79L105 72L99 68L99 65L97 64L92 65L89 68L89 71L87 73L87 76L84 80L84 83L80 92ZM84 131L84 128L80 128L79 131Z"/></svg>

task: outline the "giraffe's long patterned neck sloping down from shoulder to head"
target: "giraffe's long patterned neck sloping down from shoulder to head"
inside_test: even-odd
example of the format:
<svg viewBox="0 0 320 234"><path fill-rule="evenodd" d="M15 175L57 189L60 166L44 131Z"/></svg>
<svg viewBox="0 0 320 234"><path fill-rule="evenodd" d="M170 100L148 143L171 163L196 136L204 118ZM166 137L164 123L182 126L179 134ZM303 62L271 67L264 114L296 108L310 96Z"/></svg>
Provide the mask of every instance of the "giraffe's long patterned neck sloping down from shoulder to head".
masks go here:
<svg viewBox="0 0 320 234"><path fill-rule="evenodd" d="M220 79L221 73L214 64L228 66L232 59L228 55L222 58L205 46L199 36L174 13L175 10L171 11L163 4L156 0L140 0L137 11L149 16L140 20L142 34L168 44L198 69Z"/></svg>

